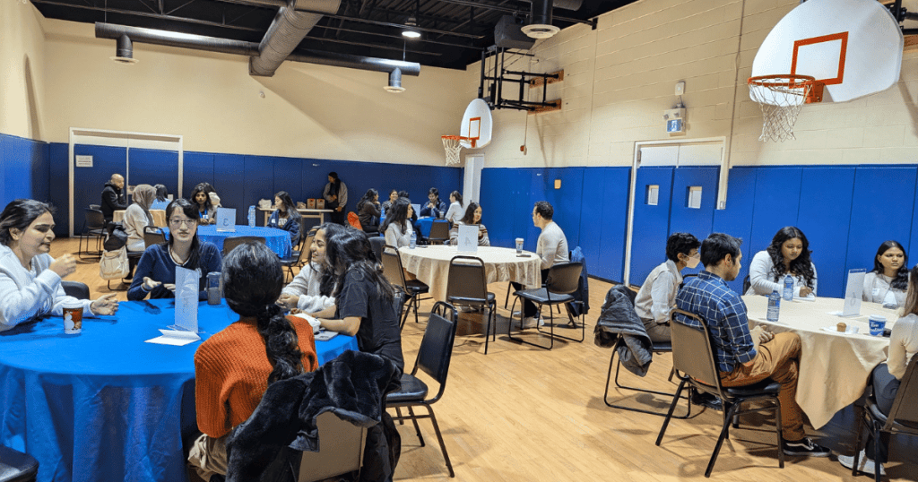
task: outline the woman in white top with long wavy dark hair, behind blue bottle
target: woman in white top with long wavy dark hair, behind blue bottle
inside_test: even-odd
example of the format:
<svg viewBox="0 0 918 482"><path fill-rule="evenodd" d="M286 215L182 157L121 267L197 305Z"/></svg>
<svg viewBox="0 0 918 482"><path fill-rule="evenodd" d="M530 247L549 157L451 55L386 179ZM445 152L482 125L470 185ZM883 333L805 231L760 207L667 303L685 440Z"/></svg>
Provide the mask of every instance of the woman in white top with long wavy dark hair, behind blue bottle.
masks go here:
<svg viewBox="0 0 918 482"><path fill-rule="evenodd" d="M746 295L768 296L772 291L784 292L784 277L794 279L794 296L816 296L816 265L810 261L810 241L803 231L788 226L775 233L765 251L756 252L749 264L752 286ZM703 263L703 262L702 262Z"/></svg>

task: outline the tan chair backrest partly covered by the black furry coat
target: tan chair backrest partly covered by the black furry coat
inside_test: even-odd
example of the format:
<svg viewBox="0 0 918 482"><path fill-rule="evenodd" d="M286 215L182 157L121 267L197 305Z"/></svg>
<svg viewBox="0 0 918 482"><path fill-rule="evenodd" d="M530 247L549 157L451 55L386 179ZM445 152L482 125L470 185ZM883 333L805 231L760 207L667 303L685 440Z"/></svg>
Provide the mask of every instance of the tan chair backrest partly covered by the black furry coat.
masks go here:
<svg viewBox="0 0 918 482"><path fill-rule="evenodd" d="M338 418L331 411L316 417L319 452L303 452L297 482L315 482L359 470L364 463L366 428Z"/></svg>

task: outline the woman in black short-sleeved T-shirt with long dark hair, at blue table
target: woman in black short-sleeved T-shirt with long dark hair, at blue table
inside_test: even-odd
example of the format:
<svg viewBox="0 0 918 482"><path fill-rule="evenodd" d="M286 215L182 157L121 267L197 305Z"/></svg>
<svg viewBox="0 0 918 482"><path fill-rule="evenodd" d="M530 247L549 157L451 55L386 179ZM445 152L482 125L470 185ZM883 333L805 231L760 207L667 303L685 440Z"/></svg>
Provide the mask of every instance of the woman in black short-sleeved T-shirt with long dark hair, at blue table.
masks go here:
<svg viewBox="0 0 918 482"><path fill-rule="evenodd" d="M323 282L334 286L337 305L332 319L319 317L322 328L356 336L361 352L388 358L401 375L405 360L395 290L383 277L366 233L341 230L328 238L325 264Z"/></svg>

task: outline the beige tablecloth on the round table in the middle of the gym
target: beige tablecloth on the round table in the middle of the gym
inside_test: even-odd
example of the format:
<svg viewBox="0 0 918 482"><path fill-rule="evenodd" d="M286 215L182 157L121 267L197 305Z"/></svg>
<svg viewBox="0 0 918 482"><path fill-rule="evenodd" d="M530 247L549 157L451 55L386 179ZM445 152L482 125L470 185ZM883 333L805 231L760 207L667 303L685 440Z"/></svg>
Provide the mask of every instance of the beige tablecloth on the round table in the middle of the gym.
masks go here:
<svg viewBox="0 0 918 482"><path fill-rule="evenodd" d="M515 281L527 288L542 286L542 262L534 252L528 258L518 258L516 250L495 246L479 246L477 252L459 252L455 246L428 246L426 248L400 248L402 266L431 286L431 297L446 300L450 260L460 254L476 256L485 262L487 283Z"/></svg>

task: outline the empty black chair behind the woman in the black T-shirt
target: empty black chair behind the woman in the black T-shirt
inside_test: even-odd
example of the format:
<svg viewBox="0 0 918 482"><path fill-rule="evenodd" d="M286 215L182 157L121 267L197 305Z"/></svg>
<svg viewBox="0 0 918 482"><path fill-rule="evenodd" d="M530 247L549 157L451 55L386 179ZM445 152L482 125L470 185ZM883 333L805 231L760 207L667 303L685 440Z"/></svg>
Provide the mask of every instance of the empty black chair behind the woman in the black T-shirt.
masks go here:
<svg viewBox="0 0 918 482"><path fill-rule="evenodd" d="M440 450L443 453L443 460L446 462L446 468L450 471L450 476L454 477L453 465L450 463L450 456L446 454L446 444L443 443L443 436L440 432L440 426L437 425L437 418L433 414L431 407L443 396L446 389L446 376L449 375L450 361L453 358L453 342L456 336L456 310L452 305L437 302L431 311L431 317L428 319L427 328L424 330L424 338L420 341L418 349L418 359L415 361L414 368L410 374L401 376L401 388L397 391L386 395L386 408L400 409L407 408L409 414L398 415L392 420L411 420L414 423L414 430L418 432L420 446L424 446L424 438L420 434L419 419L431 419L433 432L437 435L437 441L440 443ZM429 389L427 384L422 382L416 375L418 369L431 376L438 384L440 389L433 398L427 398ZM418 415L414 413L415 407L424 407L428 415Z"/></svg>

